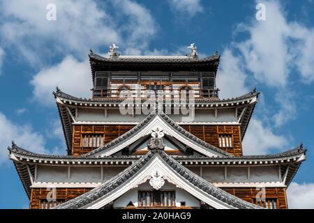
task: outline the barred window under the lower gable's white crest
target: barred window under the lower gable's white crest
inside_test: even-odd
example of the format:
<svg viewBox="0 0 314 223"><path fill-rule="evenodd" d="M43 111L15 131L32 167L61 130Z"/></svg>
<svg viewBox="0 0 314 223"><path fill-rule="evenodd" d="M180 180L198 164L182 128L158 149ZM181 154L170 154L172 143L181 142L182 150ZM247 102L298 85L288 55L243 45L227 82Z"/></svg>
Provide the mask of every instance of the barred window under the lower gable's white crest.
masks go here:
<svg viewBox="0 0 314 223"><path fill-rule="evenodd" d="M174 191L139 191L138 206L176 206Z"/></svg>

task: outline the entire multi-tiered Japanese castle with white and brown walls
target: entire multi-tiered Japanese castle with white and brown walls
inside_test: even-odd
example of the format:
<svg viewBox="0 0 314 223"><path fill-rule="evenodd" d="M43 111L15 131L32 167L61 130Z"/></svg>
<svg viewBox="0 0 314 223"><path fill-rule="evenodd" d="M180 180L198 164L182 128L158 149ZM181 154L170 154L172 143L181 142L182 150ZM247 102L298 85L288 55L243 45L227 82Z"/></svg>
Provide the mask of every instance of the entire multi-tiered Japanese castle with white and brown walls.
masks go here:
<svg viewBox="0 0 314 223"><path fill-rule="evenodd" d="M256 89L219 98L220 56L89 53L91 98L53 92L67 155L12 143L31 209L286 209L302 145L245 155ZM80 86L77 86L80 88Z"/></svg>

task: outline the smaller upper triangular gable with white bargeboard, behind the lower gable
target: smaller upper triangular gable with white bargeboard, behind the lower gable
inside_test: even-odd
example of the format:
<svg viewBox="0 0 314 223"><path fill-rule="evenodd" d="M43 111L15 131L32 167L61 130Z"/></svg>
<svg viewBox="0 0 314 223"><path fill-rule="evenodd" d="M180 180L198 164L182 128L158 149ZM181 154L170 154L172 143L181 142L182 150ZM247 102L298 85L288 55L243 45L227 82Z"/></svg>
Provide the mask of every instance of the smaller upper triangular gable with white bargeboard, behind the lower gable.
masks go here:
<svg viewBox="0 0 314 223"><path fill-rule="evenodd" d="M202 139L195 137L193 134L177 125L177 123L172 121L172 119L163 112L158 112L158 114L156 114L156 112L155 114L149 114L149 116L147 116L144 121L136 125L133 129L129 130L125 134L121 135L121 137L118 137L117 139L110 141L110 143L106 144L105 146L96 148L94 151L91 151L83 156L110 156L121 151L123 148L126 148L126 146L133 144L141 137L147 136L156 130L162 130L164 134L174 137L182 144L193 148L202 155L206 155L208 157L233 156L230 153L226 153L220 148L212 146Z"/></svg>

